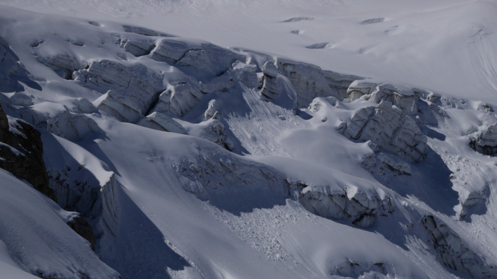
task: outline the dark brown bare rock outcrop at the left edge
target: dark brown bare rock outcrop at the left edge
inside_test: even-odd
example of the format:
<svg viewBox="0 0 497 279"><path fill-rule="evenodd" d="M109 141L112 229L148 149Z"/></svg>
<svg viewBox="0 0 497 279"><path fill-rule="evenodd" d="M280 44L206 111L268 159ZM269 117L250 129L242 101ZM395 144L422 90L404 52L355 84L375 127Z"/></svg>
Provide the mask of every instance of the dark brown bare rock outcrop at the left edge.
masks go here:
<svg viewBox="0 0 497 279"><path fill-rule="evenodd" d="M40 132L23 121L13 121L10 125L0 105L0 168L56 201L54 191L48 186Z"/></svg>

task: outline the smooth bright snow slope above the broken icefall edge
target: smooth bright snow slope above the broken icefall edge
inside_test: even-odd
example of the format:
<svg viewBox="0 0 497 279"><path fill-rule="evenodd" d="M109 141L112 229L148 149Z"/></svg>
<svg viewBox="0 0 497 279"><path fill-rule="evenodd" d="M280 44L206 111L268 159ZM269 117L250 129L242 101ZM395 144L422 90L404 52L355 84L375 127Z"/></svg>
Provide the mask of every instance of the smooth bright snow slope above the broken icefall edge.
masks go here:
<svg viewBox="0 0 497 279"><path fill-rule="evenodd" d="M125 21L223 47L273 53L325 70L423 86L450 96L475 96L488 102L496 90L492 51L497 43L496 7L489 0L0 3Z"/></svg>

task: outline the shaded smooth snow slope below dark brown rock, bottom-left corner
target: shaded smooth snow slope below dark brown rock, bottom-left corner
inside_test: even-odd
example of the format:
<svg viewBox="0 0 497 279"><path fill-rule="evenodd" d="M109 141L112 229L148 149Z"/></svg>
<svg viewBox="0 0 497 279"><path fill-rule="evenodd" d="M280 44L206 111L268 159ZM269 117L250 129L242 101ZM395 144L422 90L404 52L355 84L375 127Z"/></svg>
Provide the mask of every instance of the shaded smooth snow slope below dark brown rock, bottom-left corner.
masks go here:
<svg viewBox="0 0 497 279"><path fill-rule="evenodd" d="M21 270L75 279L81 274L116 278L116 272L101 263L89 244L66 225L77 213L62 210L4 170L0 176L0 263L9 265L6 272L11 273L5 274L2 268L2 278L30 278Z"/></svg>

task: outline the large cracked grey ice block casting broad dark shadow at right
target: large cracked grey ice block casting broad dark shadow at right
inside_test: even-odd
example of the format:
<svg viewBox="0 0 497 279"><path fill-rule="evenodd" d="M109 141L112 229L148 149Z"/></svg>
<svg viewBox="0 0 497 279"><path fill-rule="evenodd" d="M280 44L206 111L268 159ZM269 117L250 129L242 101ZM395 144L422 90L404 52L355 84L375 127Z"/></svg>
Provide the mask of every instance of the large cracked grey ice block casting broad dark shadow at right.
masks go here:
<svg viewBox="0 0 497 279"><path fill-rule="evenodd" d="M426 136L411 117L388 101L376 108L358 110L338 131L350 139L371 140L381 149L411 162L426 156Z"/></svg>

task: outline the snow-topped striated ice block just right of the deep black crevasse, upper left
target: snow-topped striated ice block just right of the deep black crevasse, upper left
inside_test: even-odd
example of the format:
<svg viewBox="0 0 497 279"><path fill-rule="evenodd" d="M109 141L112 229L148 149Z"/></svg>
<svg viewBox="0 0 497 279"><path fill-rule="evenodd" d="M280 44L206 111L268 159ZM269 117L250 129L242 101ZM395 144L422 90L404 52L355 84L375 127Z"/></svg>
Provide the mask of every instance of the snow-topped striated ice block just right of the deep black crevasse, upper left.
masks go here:
<svg viewBox="0 0 497 279"><path fill-rule="evenodd" d="M193 78L170 85L159 96L154 111L170 112L176 116L183 116L193 108L203 97L202 91Z"/></svg>

